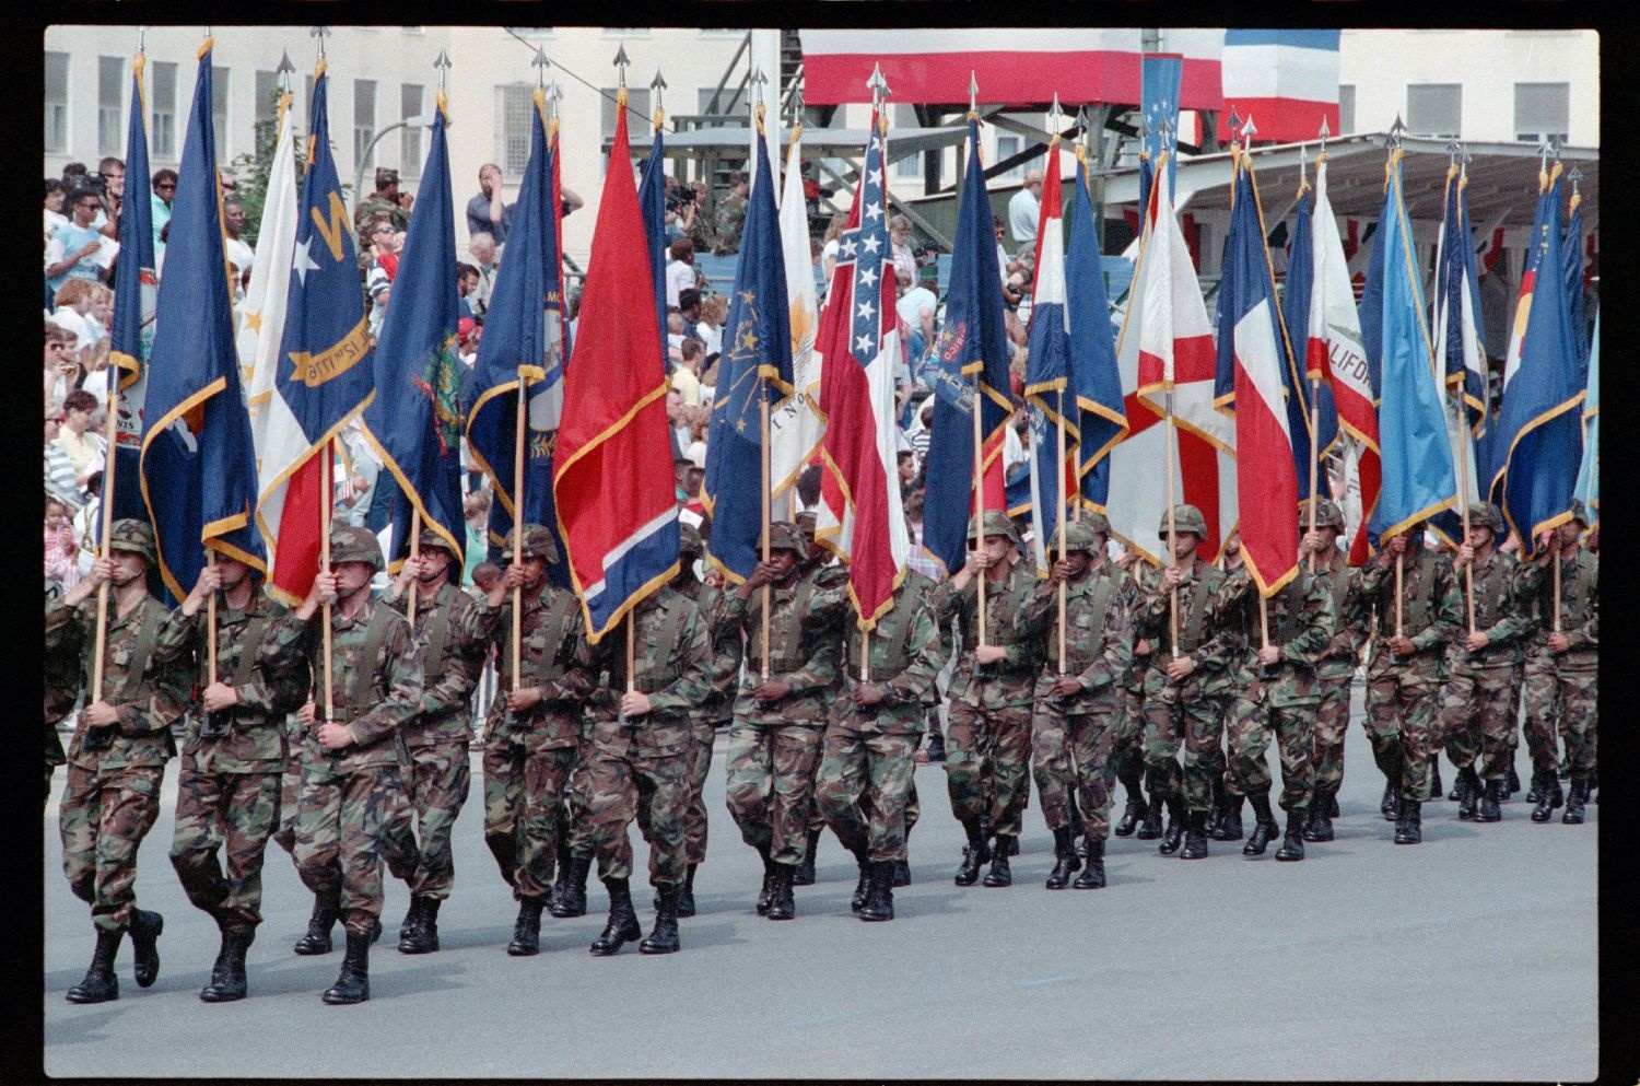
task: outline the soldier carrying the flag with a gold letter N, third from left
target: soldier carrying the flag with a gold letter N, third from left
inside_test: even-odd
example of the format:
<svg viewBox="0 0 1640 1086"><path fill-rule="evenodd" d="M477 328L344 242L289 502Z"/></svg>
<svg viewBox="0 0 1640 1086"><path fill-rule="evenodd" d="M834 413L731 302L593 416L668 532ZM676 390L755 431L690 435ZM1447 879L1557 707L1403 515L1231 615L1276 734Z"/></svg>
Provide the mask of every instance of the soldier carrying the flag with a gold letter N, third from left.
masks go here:
<svg viewBox="0 0 1640 1086"><path fill-rule="evenodd" d="M382 564L369 528L335 525L330 569L320 571L295 610L308 623L315 691L297 717L325 750L302 769L295 861L325 906L325 938L336 915L348 937L341 973L323 994L328 1004L371 997L382 861L403 881L418 861L403 730L421 709L421 651L405 617L371 595L371 577ZM328 661L321 604L330 604Z"/></svg>

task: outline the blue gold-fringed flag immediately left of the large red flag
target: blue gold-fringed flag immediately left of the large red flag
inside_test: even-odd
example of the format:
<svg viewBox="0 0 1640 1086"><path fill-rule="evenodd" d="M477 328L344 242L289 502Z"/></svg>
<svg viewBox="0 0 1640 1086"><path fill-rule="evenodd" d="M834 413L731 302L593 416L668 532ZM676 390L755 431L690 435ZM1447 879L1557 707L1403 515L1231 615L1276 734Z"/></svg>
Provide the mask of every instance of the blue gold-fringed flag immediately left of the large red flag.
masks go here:
<svg viewBox="0 0 1640 1086"><path fill-rule="evenodd" d="M502 543L520 513L523 523L553 532L559 554L564 553L553 502L553 459L564 408L564 292L554 198L558 121L548 139L544 105L546 95L536 90L530 161L518 185L507 259L495 276L479 358L462 394L472 463L495 491L492 559L500 559ZM517 481L520 379L526 382L525 469ZM569 587L566 563L548 566L548 576L553 584Z"/></svg>

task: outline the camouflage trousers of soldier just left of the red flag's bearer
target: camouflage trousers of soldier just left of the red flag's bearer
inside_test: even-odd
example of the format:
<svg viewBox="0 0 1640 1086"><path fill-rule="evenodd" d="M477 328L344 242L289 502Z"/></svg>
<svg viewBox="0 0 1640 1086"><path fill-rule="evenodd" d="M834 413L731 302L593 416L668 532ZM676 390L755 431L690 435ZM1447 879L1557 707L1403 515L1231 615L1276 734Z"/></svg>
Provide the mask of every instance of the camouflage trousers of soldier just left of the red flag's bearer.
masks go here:
<svg viewBox="0 0 1640 1086"><path fill-rule="evenodd" d="M544 897L553 886L574 764L574 746L533 750L526 735L484 743L484 843L517 899Z"/></svg>

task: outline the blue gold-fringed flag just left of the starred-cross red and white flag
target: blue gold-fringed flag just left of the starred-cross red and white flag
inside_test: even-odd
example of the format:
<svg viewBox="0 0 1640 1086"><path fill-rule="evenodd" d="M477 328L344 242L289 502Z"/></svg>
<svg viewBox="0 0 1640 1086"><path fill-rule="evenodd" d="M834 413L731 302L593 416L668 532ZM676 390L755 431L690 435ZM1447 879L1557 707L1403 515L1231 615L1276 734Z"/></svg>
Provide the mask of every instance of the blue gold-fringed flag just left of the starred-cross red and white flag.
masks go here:
<svg viewBox="0 0 1640 1086"><path fill-rule="evenodd" d="M758 121L761 136L763 121ZM769 413L792 395L792 331L786 253L774 210L768 141L756 139L756 182L735 267L735 294L723 323L717 399L707 435L702 502L712 513L712 561L733 581L751 576L763 540L763 458ZM864 302L869 305L869 300Z"/></svg>

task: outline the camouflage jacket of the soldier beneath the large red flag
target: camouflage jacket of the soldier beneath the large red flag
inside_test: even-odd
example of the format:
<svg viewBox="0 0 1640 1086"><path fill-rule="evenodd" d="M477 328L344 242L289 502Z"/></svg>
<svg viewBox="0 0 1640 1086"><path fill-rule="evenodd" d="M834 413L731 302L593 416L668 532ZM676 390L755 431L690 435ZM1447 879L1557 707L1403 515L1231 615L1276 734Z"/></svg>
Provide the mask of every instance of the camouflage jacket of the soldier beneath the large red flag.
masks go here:
<svg viewBox="0 0 1640 1086"><path fill-rule="evenodd" d="M649 696L649 712L620 722L626 691L626 630L610 628L592 645L582 640L576 663L597 676L587 699L592 741L612 753L636 743L641 758L682 755L689 750L689 723L695 707L712 692L712 638L707 618L692 599L663 587L640 602L625 622L633 622L631 686Z"/></svg>

